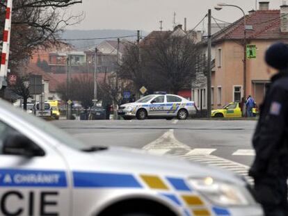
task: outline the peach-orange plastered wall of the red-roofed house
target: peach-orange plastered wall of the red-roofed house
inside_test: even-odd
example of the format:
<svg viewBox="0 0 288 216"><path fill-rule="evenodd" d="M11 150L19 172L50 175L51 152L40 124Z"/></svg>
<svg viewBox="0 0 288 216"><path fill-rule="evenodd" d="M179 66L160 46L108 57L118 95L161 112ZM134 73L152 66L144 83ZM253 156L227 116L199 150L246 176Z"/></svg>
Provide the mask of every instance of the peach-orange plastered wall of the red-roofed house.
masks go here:
<svg viewBox="0 0 288 216"><path fill-rule="evenodd" d="M266 73L264 55L266 49L273 44L273 40L255 40L250 44L257 47L256 58L247 59L246 69L246 96L251 94L256 98L257 103L262 103L264 97L264 83L269 82L269 75ZM218 49L221 49L221 67L218 65L220 56ZM241 87L243 97L243 47L233 41L225 41L215 47L216 72L212 76L214 87L214 108L220 108L227 103L234 101L234 87ZM218 90L221 87L221 103L217 103Z"/></svg>

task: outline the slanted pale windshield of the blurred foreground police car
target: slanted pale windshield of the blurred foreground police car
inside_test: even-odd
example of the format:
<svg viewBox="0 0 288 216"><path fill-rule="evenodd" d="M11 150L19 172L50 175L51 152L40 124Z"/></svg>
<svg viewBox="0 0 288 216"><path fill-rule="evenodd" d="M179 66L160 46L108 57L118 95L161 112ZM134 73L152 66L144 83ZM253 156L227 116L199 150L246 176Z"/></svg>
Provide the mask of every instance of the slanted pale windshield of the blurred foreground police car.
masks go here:
<svg viewBox="0 0 288 216"><path fill-rule="evenodd" d="M45 122L38 117L34 117L28 115L27 113L23 112L22 110L18 110L17 108L11 108L10 104L1 101L0 99L0 107L6 111L10 111L13 113L13 116L17 117L17 119L23 119L27 124L33 125L35 128L39 128L41 131L45 131L47 135L51 138L55 138L61 144L67 145L67 147L72 147L73 149L83 150L87 149L87 144L83 144L77 139L72 138L72 136L67 135L65 132L56 128L56 126Z"/></svg>

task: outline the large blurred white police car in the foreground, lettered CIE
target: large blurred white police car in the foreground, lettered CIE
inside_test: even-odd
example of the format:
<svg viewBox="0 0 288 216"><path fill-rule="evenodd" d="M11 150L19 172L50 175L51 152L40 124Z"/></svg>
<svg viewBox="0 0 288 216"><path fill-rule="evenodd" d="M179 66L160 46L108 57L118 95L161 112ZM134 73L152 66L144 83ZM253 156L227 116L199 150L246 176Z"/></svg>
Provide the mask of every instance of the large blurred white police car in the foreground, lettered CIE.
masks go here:
<svg viewBox="0 0 288 216"><path fill-rule="evenodd" d="M262 215L227 172L88 147L0 100L0 215Z"/></svg>

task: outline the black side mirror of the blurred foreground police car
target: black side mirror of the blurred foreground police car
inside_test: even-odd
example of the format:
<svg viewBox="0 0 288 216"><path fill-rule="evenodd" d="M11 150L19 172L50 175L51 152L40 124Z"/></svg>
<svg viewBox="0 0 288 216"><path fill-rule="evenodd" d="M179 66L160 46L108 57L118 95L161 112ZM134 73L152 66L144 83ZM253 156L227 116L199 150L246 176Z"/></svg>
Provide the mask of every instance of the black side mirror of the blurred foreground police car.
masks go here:
<svg viewBox="0 0 288 216"><path fill-rule="evenodd" d="M20 133L7 135L3 140L3 154L29 158L45 156L45 152L40 147Z"/></svg>

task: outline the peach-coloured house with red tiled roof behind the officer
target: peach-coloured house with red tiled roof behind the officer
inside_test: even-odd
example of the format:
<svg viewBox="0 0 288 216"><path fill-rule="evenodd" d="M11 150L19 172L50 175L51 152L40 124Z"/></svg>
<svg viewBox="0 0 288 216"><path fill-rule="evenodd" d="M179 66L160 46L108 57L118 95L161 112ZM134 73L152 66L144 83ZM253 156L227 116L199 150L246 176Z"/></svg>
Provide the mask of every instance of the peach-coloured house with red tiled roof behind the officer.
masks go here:
<svg viewBox="0 0 288 216"><path fill-rule="evenodd" d="M246 15L246 41L249 47L255 47L246 50L246 97L252 95L258 104L262 103L266 86L270 82L264 62L265 51L275 42L288 43L287 19L288 6L281 6L280 10L269 10L267 1L259 2L259 10L250 11ZM232 101L241 101L244 97L243 38L243 17L212 35L215 65L211 75L211 93L214 108ZM250 56L249 52L253 55ZM203 95L195 86L192 94L196 103L200 98L207 98L207 90Z"/></svg>

